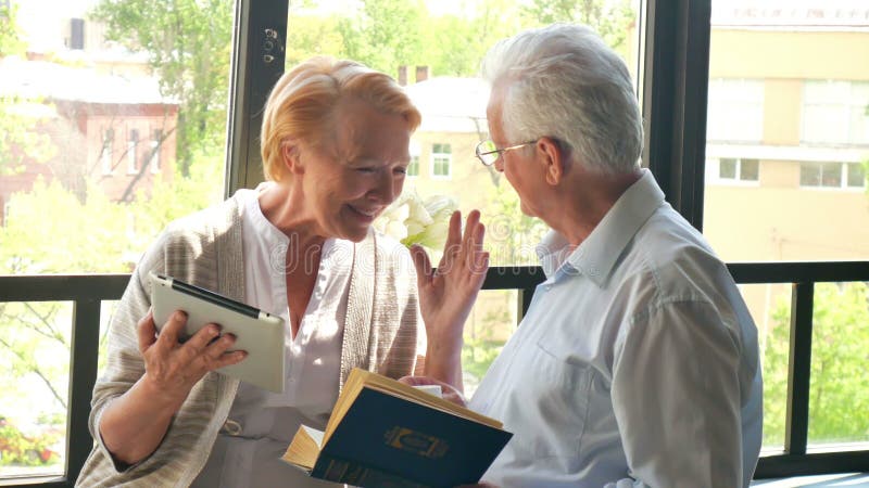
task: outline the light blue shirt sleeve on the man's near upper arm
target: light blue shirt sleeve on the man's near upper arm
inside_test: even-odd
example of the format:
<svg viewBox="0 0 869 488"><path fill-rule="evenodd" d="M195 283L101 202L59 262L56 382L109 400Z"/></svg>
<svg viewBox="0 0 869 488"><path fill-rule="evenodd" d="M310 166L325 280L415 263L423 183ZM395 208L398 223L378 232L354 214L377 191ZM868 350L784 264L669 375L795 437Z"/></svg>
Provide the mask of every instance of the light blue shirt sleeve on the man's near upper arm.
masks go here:
<svg viewBox="0 0 869 488"><path fill-rule="evenodd" d="M616 345L612 386L631 486L741 486L733 329L703 301L671 301L638 317Z"/></svg>

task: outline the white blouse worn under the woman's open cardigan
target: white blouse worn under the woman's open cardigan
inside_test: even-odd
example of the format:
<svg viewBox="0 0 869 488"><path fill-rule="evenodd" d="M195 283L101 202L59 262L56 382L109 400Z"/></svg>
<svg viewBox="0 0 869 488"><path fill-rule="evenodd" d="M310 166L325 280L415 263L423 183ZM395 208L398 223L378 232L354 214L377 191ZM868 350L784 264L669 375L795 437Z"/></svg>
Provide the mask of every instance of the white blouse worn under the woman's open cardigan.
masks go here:
<svg viewBox="0 0 869 488"><path fill-rule="evenodd" d="M267 184L267 183L266 183ZM295 338L289 326L285 277L293 243L260 208L265 184L243 193L244 298L287 323L287 380L284 394L241 383L229 418L193 487L327 487L280 461L304 423L323 429L338 397L341 341L347 312L353 243L324 243L317 279ZM303 259L302 266L313 266Z"/></svg>

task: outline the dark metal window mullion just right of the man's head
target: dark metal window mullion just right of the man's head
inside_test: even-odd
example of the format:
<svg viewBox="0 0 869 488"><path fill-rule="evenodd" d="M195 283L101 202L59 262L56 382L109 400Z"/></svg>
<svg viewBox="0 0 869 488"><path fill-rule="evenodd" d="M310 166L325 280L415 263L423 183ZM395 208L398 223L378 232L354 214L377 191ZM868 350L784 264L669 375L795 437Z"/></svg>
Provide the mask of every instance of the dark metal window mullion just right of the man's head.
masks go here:
<svg viewBox="0 0 869 488"><path fill-rule="evenodd" d="M703 229L711 0L647 0L643 162L667 201Z"/></svg>

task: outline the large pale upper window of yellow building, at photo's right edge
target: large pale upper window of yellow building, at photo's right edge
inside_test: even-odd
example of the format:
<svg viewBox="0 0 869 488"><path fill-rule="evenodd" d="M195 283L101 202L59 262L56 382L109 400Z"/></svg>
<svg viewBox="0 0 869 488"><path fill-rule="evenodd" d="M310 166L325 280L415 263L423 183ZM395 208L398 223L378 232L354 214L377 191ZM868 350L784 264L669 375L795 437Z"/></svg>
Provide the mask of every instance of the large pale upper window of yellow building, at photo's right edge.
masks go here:
<svg viewBox="0 0 869 488"><path fill-rule="evenodd" d="M869 82L806 80L802 142L869 144Z"/></svg>

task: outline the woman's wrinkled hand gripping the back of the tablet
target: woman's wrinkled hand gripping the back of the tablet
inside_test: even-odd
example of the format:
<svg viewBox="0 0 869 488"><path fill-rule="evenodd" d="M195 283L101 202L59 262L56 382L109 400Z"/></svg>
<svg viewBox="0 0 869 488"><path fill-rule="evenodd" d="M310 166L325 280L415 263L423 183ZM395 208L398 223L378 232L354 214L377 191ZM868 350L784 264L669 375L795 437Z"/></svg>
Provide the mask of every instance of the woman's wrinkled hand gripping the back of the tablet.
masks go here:
<svg viewBox="0 0 869 488"><path fill-rule="evenodd" d="M165 395L165 399L178 406L205 373L236 364L248 356L240 350L227 352L236 342L231 334L214 341L221 331L213 323L200 329L184 344L179 343L178 336L186 323L187 314L177 310L156 334L154 317L149 310L137 325L139 351L144 358L142 381L150 384L152 391Z"/></svg>

